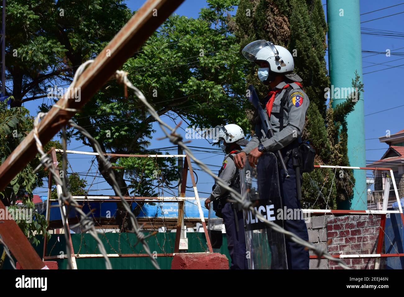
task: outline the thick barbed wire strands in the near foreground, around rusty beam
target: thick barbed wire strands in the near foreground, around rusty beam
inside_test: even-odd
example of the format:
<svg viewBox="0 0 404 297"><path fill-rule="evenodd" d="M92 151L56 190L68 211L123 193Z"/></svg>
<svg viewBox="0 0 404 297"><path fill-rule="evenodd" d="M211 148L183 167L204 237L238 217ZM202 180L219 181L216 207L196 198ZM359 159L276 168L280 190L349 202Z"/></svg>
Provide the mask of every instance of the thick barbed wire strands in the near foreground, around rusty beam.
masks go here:
<svg viewBox="0 0 404 297"><path fill-rule="evenodd" d="M86 65L90 64L92 62L92 60L86 61L85 63L83 63L78 71L76 72L74 81L72 82L72 84L69 87L69 90L71 88L74 87L74 84L76 82L76 79L78 76L80 76L80 74L84 71ZM80 71L81 70L81 71ZM261 215L261 213L257 212L253 205L252 202L246 200L246 195L241 196L238 192L236 192L234 189L231 189L230 187L227 186L226 183L224 183L224 181L222 179L220 179L219 177L217 177L212 171L210 171L210 169L208 168L208 166L206 166L203 162L201 162L200 160L198 160L194 154L191 152L191 150L189 149L189 147L187 147L187 145L184 144L184 142L182 141L182 137L181 135L176 133L177 128L179 127L180 124L177 124L177 126L175 128L172 128L170 125L168 125L167 123L165 123L163 120L161 120L160 116L158 115L158 113L156 112L156 110L154 110L154 107L151 106L151 104L147 101L147 99L145 98L145 96L143 95L143 93L136 88L135 86L133 86L133 84L128 80L127 78L127 73L123 72L123 71L116 71L116 79L125 84L128 88L132 89L135 92L135 95L140 99L140 101L147 107L147 110L149 111L150 115L158 122L158 124L160 125L160 128L162 129L165 137L170 140L170 142L174 143L175 145L179 145L180 147L183 148L183 150L186 152L186 154L189 156L189 158L191 158L192 160L194 160L193 163L197 164L198 166L200 166L200 168L202 170L204 170L208 175L210 175L211 177L213 177L217 183L223 187L225 190L227 190L231 197L232 197L232 201L231 202L235 202L238 203L242 206L242 208L244 210L249 210L252 212L252 214L254 214L258 219L260 219L261 221L263 221L266 225L268 225L272 230L276 231L276 232L280 232L282 234L284 234L284 236L290 238L290 240L292 240L293 242L296 242L298 244L301 244L302 246L305 246L307 249L313 251L314 254L318 255L318 260L320 261L320 259L322 257L334 261L336 262L339 266L341 266L342 268L345 269L350 269L346 263L338 258L333 257L332 255L330 255L326 249L324 249L324 247L320 247L320 246L315 246L314 244L311 244L310 242L307 242L301 238L299 238L298 236L296 236L295 234L288 232L286 230L284 230L283 227L280 227L279 225L268 221L267 219L265 219L263 217L263 215ZM66 103L67 100L62 101L62 106L58 106L58 105L54 105L55 107L59 107L62 110L67 110L67 111L74 111L76 112L76 110L72 110L66 107ZM94 222L92 219L89 218L88 214L85 214L84 212L81 211L81 205L78 204L73 198L72 195L69 193L69 191L67 190L67 185L64 183L64 181L62 181L59 177L59 175L56 173L55 168L53 166L53 161L50 159L49 156L47 156L44 152L43 152L43 148L42 148L42 144L39 141L39 135L38 135L38 120L40 118L42 118L42 116L44 116L44 113L39 113L37 118L34 121L34 138L36 139L36 144L37 144L37 148L38 151L40 152L40 154L42 155L41 157L41 163L50 170L51 174L53 175L53 178L55 179L55 181L57 182L57 184L61 185L61 187L63 188L62 194L60 195L59 198L59 204L61 207L63 207L63 204L68 205L69 207L74 207L76 209L76 211L80 214L80 225L83 228L84 232L88 232L90 233L98 242L99 244L99 249L101 251L101 253L103 254L104 258L105 258L105 263L107 268L112 268L111 264L109 263L109 259L107 257L107 254L105 252L105 248L103 247L103 244L101 242L101 240L98 238L97 236L97 232L95 232L95 226L94 226ZM115 179L115 175L114 175L114 171L112 170L112 164L107 160L107 158L103 155L103 152L101 150L101 146L99 145L99 143L90 135L90 133L88 133L88 131L86 129L84 129L83 127L79 126L78 124L76 124L75 122L73 122L72 120L69 120L67 122L67 124L73 128L76 128L82 135L84 135L88 141L90 141L90 143L92 143L92 145L95 148L95 151L99 154L99 162L101 162L104 166L104 170L105 172L109 175L109 178L112 181L112 185L113 188L115 190L115 192L118 194L118 196L120 197L120 199L122 200L123 206L125 208L125 210L127 211L127 215L129 215L129 219L132 223L133 226L133 232L136 234L138 240L143 244L143 249L146 251L146 253L149 255L149 257L152 260L153 265L156 268L158 267L157 261L154 259L154 257L151 255L149 247L147 245L146 239L147 236L145 236L143 233L141 233L141 227L139 227L138 221L136 216L134 215L134 213L131 211L131 207L128 205L128 203L126 202L126 200L123 198L121 191L120 191L120 187ZM65 135L65 129L62 129L62 141L63 141L63 149L66 150L66 135ZM66 154L63 154L63 169L65 169L65 164L67 162L67 157ZM335 174L334 174L335 177ZM324 185L323 185L324 187ZM321 193L321 191L320 191ZM323 197L325 200L325 197ZM329 199L329 196L328 196ZM327 200L328 200L327 199ZM327 203L328 204L328 203ZM65 220L67 221L67 215L65 214ZM66 225L64 225L65 227L65 236L67 236L67 232L66 232ZM67 240L68 242L68 240ZM67 245L67 251L68 251L68 257L69 257L69 265L71 265L71 252L70 252L70 248Z"/></svg>

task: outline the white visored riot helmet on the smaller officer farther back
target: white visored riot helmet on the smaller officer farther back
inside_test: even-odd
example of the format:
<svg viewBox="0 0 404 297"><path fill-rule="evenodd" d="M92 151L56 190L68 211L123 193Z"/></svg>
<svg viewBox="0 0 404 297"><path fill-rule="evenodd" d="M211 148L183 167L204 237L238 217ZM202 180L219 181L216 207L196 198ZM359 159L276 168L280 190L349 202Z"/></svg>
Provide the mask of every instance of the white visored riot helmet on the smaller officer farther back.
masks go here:
<svg viewBox="0 0 404 297"><path fill-rule="evenodd" d="M213 142L219 142L223 151L226 150L226 145L230 143L237 143L238 145L245 146L248 141L244 139L243 129L236 124L220 125L215 127L213 133Z"/></svg>

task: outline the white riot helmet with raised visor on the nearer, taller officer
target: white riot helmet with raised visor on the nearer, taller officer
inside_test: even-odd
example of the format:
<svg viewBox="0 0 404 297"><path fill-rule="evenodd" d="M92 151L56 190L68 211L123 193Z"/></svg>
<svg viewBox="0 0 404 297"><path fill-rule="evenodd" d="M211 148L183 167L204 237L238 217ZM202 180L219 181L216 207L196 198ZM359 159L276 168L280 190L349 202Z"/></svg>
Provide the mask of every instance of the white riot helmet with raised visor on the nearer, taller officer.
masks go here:
<svg viewBox="0 0 404 297"><path fill-rule="evenodd" d="M247 44L242 54L248 61L267 63L268 67L258 70L258 77L262 82L269 83L280 74L284 74L295 82L302 81L297 74L293 73L295 63L292 54L283 46L274 45L266 40L256 40Z"/></svg>

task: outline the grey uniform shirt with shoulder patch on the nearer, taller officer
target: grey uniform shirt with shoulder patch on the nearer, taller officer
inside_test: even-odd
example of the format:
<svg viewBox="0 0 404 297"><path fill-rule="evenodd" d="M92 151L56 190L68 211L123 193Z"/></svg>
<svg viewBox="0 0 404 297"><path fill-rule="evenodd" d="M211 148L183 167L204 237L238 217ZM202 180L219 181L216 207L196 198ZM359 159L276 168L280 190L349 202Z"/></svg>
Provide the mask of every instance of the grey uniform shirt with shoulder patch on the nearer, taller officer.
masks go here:
<svg viewBox="0 0 404 297"><path fill-rule="evenodd" d="M285 85L286 82L281 82L274 89L282 89ZM283 89L275 95L271 117L269 118L272 128L274 128L274 137L268 139L265 131L261 129L261 125L256 125L254 135L242 152L245 152L248 155L248 153L255 149L259 143L264 145L267 152L277 151L286 147L298 137L301 137L310 101L299 85L290 83L290 86L292 86L293 89L289 91L284 108L281 106L281 99L286 92L286 89ZM284 113L283 129L282 131L279 131L281 112ZM259 133L258 129L261 129L261 133ZM259 138L260 134L261 138Z"/></svg>

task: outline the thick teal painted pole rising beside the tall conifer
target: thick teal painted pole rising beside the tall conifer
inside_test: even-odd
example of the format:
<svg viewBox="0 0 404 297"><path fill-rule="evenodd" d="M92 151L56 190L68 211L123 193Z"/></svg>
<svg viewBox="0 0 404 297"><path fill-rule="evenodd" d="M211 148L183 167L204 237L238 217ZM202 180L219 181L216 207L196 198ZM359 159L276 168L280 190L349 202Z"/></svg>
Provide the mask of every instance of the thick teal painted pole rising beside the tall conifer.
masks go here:
<svg viewBox="0 0 404 297"><path fill-rule="evenodd" d="M352 87L355 70L362 80L362 45L360 36L359 0L327 0L328 68L332 107L342 103L343 90ZM337 89L339 88L339 89ZM332 91L334 90L334 93ZM338 95L338 91L339 95ZM337 98L336 98L337 97ZM348 158L350 166L366 166L363 94L356 102L355 110L347 116ZM355 187L351 203L339 205L345 209L367 208L366 171L353 170Z"/></svg>

